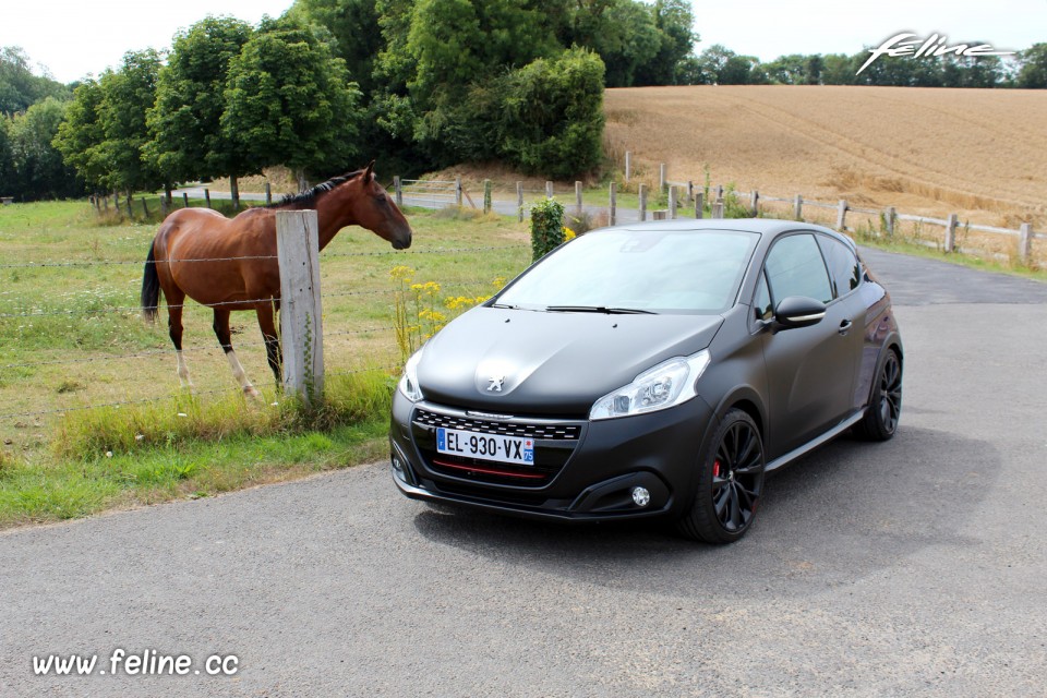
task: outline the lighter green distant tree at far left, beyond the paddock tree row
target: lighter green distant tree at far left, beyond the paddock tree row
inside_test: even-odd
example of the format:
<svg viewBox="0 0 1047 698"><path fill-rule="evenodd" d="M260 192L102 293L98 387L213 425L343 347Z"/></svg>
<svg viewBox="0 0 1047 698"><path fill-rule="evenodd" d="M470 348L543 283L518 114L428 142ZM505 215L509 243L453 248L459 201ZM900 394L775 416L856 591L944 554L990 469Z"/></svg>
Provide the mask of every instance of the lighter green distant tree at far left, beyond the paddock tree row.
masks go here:
<svg viewBox="0 0 1047 698"><path fill-rule="evenodd" d="M84 192L73 168L51 145L65 118L67 103L47 97L16 115L11 123L11 155L17 182L16 195L22 201L67 198Z"/></svg>

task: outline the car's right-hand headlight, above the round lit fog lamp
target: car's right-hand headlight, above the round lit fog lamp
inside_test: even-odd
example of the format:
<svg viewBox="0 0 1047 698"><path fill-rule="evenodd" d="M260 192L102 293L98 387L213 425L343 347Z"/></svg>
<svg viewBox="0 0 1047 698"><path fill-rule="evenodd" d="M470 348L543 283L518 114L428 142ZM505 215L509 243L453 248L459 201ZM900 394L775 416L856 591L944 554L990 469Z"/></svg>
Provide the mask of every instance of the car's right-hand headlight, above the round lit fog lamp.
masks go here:
<svg viewBox="0 0 1047 698"><path fill-rule="evenodd" d="M589 411L589 419L614 419L655 412L695 397L695 382L709 365L709 351L676 357L636 376L633 383L604 395Z"/></svg>

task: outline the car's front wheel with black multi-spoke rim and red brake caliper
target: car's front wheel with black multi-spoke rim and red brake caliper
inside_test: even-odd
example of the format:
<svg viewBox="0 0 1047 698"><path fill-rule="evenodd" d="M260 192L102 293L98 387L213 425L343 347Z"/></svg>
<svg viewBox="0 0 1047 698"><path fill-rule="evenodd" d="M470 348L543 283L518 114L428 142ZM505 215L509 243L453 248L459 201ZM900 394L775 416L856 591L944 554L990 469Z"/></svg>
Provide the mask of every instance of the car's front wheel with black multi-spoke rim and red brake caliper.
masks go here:
<svg viewBox="0 0 1047 698"><path fill-rule="evenodd" d="M679 532L713 545L745 535L756 517L766 465L756 422L743 410L732 409L701 457L695 501L677 522Z"/></svg>

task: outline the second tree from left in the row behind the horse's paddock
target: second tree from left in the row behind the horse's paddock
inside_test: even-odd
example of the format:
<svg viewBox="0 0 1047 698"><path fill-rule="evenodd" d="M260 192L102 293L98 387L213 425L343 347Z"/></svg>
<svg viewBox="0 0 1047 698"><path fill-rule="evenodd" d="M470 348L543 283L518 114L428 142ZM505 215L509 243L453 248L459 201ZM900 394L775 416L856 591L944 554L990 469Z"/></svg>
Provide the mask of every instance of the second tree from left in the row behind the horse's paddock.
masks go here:
<svg viewBox="0 0 1047 698"><path fill-rule="evenodd" d="M109 189L132 192L154 189L164 182L159 171L143 157L149 142L146 112L156 104L160 56L154 49L128 51L117 72L99 80L98 116L105 140L99 146Z"/></svg>

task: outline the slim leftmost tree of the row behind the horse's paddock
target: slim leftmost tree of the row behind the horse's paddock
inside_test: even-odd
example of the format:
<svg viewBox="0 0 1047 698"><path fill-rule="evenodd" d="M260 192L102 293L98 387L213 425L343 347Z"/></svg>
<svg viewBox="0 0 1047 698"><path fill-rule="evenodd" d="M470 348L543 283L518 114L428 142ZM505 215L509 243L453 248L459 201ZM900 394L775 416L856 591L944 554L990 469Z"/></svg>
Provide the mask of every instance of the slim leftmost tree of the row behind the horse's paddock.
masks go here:
<svg viewBox="0 0 1047 698"><path fill-rule="evenodd" d="M106 132L99 113L101 98L101 85L96 81L81 83L65 109L65 120L52 140L65 165L75 169L96 192L108 188L109 173L103 152Z"/></svg>

